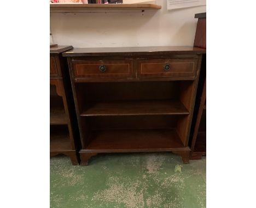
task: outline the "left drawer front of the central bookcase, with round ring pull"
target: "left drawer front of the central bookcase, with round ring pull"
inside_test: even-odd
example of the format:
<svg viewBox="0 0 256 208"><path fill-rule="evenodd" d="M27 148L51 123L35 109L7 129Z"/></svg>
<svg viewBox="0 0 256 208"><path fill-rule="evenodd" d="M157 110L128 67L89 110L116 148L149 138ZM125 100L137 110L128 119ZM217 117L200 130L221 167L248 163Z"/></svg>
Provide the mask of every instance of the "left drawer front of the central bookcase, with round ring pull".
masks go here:
<svg viewBox="0 0 256 208"><path fill-rule="evenodd" d="M75 78L126 78L132 77L131 60L73 61Z"/></svg>

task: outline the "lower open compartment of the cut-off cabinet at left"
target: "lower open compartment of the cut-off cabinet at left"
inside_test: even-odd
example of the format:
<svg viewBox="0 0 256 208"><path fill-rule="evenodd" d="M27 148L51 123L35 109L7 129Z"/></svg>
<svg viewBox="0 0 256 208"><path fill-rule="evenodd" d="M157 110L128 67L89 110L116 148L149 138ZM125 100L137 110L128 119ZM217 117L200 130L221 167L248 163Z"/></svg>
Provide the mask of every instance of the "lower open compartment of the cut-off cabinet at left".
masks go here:
<svg viewBox="0 0 256 208"><path fill-rule="evenodd" d="M72 150L69 133L66 129L50 133L50 151Z"/></svg>

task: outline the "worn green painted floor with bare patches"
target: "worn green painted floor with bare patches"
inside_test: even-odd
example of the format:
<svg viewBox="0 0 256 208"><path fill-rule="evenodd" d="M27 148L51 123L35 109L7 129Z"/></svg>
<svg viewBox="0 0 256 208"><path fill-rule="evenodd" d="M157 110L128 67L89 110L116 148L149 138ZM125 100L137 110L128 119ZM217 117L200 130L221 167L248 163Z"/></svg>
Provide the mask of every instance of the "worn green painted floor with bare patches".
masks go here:
<svg viewBox="0 0 256 208"><path fill-rule="evenodd" d="M89 166L50 159L51 207L206 207L206 158L183 164L164 153L104 154Z"/></svg>

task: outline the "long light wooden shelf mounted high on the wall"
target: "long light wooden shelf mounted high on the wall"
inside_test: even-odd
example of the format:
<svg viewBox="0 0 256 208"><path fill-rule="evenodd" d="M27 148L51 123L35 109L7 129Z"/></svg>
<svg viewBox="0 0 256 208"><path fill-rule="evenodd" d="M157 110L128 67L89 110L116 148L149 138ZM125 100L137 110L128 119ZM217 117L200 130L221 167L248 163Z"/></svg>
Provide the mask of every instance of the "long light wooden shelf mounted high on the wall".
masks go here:
<svg viewBox="0 0 256 208"><path fill-rule="evenodd" d="M78 13L91 11L158 10L156 4L50 4L51 13Z"/></svg>

